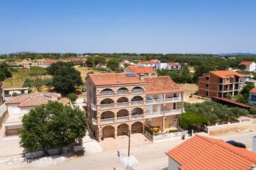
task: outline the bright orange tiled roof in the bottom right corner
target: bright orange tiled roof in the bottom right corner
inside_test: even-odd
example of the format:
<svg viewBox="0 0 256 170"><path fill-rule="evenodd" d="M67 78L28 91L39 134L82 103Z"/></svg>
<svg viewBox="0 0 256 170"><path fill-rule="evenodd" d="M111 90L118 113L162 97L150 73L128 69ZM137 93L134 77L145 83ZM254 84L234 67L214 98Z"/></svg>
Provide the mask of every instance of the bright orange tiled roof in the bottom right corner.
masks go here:
<svg viewBox="0 0 256 170"><path fill-rule="evenodd" d="M249 169L256 154L224 141L196 135L166 153L182 170Z"/></svg>

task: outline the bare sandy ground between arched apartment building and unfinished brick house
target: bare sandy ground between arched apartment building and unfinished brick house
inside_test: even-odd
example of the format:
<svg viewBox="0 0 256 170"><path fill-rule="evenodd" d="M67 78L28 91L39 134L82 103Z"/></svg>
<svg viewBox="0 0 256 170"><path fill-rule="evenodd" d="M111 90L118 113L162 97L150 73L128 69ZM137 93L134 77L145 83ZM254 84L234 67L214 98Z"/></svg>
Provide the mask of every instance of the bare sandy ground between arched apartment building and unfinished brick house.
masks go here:
<svg viewBox="0 0 256 170"><path fill-rule="evenodd" d="M182 90L184 90L184 101L188 103L202 103L203 101L210 100L208 98L203 98L194 93L198 90L198 85L196 84L177 84ZM193 97L189 96L193 94Z"/></svg>

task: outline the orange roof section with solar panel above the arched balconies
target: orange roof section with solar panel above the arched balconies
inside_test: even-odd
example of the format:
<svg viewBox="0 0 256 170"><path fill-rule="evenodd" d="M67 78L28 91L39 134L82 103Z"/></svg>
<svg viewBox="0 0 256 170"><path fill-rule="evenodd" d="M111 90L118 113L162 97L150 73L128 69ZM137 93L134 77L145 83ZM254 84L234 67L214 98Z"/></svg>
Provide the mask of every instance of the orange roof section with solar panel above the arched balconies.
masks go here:
<svg viewBox="0 0 256 170"><path fill-rule="evenodd" d="M128 77L129 73L100 73L89 74L87 78L90 78L95 85L122 85L122 84L135 84L145 83L144 80L140 80L139 76L133 73L134 77Z"/></svg>

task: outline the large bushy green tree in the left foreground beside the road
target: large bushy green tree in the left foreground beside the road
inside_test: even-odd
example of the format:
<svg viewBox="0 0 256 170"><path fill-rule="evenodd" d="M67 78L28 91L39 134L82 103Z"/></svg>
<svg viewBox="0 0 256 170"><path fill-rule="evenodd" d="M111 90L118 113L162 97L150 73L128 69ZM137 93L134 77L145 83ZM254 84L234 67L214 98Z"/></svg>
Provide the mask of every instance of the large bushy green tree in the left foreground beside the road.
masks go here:
<svg viewBox="0 0 256 170"><path fill-rule="evenodd" d="M26 152L68 146L86 135L86 114L58 101L36 106L22 117L20 146Z"/></svg>

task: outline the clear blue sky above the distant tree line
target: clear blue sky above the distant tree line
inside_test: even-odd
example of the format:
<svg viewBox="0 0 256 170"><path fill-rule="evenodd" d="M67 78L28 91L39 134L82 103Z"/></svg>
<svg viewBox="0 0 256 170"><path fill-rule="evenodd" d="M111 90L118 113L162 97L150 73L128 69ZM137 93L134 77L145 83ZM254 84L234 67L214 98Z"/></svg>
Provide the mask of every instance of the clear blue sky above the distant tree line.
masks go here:
<svg viewBox="0 0 256 170"><path fill-rule="evenodd" d="M0 0L0 53L256 53L254 0Z"/></svg>

